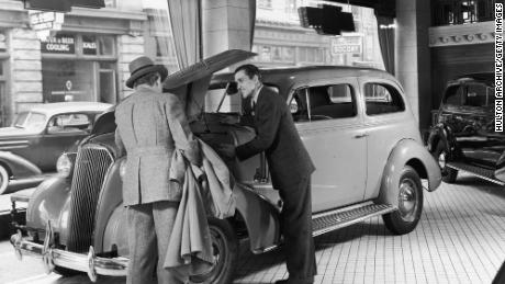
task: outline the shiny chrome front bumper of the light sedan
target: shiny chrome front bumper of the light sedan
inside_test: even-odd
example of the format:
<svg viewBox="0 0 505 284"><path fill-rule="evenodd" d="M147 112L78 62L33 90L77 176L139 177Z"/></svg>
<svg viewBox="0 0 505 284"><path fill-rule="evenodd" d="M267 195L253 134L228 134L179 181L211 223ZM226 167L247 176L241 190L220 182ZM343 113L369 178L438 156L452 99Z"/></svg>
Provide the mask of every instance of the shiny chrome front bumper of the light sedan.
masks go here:
<svg viewBox="0 0 505 284"><path fill-rule="evenodd" d="M18 259L21 260L23 255L41 258L47 273L50 273L55 266L60 266L86 272L92 282L97 281L98 275L126 275L128 263L126 258L97 257L92 246L88 254L56 249L53 246L54 239L52 236L54 236L54 234L48 223L44 245L24 239L21 231L11 236L11 243L14 247Z"/></svg>

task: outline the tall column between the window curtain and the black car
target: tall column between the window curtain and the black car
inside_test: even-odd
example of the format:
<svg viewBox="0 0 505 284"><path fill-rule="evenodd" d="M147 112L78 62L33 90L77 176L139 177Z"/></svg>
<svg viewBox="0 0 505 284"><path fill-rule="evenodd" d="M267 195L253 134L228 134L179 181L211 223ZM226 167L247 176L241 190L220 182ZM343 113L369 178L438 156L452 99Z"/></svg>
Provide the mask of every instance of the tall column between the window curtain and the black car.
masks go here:
<svg viewBox="0 0 505 284"><path fill-rule="evenodd" d="M429 1L396 1L396 78L405 88L422 130L430 124L430 19Z"/></svg>

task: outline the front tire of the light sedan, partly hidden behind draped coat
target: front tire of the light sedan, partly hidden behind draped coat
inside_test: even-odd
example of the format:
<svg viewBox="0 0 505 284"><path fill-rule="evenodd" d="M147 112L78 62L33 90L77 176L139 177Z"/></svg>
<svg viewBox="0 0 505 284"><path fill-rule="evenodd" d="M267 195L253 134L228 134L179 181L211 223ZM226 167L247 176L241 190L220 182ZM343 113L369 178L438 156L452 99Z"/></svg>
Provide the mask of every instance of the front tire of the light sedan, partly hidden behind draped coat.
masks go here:
<svg viewBox="0 0 505 284"><path fill-rule="evenodd" d="M202 275L191 276L192 283L227 284L232 283L238 255L238 239L228 220L209 219L212 248L216 263Z"/></svg>

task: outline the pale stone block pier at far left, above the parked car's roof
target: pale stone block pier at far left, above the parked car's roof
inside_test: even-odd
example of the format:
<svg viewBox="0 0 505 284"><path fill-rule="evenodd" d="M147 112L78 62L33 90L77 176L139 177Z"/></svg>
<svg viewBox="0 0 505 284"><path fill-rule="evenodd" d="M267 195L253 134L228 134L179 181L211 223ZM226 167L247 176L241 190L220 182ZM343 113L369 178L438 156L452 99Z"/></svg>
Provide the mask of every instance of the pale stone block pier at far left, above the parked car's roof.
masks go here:
<svg viewBox="0 0 505 284"><path fill-rule="evenodd" d="M32 30L12 29L10 37L10 78L13 113L43 103L41 42Z"/></svg>

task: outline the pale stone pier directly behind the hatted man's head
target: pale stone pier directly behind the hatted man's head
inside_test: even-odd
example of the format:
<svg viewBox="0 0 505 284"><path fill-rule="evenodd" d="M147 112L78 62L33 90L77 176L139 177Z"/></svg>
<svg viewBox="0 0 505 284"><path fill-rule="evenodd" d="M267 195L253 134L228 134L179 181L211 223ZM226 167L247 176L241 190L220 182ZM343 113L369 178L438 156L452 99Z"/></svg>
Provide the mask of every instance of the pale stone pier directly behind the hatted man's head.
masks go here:
<svg viewBox="0 0 505 284"><path fill-rule="evenodd" d="M144 36L120 35L117 36L117 77L120 100L128 96L133 90L126 87L126 80L130 78L130 63L145 55Z"/></svg>

